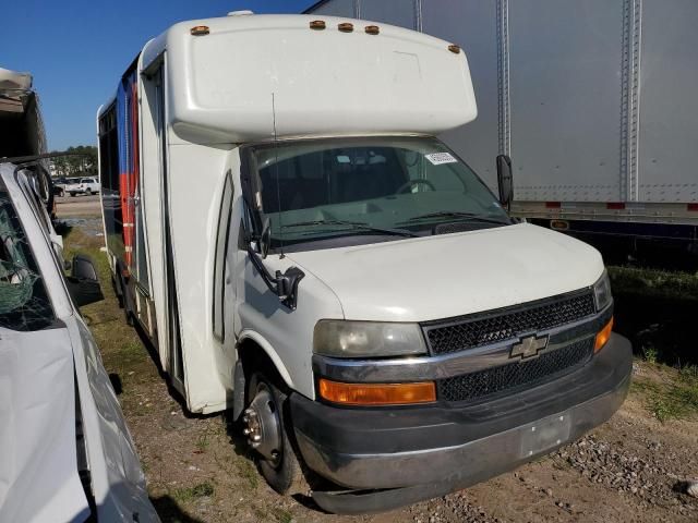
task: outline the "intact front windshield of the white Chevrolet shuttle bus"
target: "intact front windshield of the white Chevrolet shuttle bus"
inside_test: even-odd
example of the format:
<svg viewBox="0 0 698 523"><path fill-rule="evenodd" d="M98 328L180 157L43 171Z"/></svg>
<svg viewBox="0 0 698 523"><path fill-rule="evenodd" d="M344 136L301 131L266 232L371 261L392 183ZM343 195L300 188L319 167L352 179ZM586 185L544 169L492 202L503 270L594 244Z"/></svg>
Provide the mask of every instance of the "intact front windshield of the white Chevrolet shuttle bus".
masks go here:
<svg viewBox="0 0 698 523"><path fill-rule="evenodd" d="M249 148L272 248L445 234L512 223L496 198L431 137L332 138ZM329 244L327 241L330 241Z"/></svg>

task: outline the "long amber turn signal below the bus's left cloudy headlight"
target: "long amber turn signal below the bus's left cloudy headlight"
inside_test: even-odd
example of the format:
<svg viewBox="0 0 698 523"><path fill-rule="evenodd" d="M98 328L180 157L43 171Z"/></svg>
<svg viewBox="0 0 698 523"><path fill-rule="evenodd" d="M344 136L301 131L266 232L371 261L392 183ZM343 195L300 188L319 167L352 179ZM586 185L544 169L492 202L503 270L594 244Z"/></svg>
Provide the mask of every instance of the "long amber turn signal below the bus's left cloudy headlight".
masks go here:
<svg viewBox="0 0 698 523"><path fill-rule="evenodd" d="M414 384L342 384L321 378L320 396L342 405L408 405L436 401L433 381Z"/></svg>

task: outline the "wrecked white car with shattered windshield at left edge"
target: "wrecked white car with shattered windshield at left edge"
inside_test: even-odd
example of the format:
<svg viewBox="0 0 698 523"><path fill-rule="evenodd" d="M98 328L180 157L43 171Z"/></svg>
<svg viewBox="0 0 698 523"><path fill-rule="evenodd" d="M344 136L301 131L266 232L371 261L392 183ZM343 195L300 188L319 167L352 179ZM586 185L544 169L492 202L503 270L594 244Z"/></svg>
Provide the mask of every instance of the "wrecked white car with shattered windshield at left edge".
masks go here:
<svg viewBox="0 0 698 523"><path fill-rule="evenodd" d="M77 306L88 258L62 271L34 174L0 163L0 522L153 522L145 479Z"/></svg>

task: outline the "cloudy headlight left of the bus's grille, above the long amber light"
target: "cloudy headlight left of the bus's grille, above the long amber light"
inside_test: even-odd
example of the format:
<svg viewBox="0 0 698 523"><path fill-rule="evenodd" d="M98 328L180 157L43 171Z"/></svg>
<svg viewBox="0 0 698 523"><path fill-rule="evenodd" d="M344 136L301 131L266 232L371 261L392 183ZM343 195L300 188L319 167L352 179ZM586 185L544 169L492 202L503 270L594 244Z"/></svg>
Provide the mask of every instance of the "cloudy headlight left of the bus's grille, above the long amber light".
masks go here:
<svg viewBox="0 0 698 523"><path fill-rule="evenodd" d="M315 325L313 351L334 357L381 357L426 354L417 324L323 319Z"/></svg>

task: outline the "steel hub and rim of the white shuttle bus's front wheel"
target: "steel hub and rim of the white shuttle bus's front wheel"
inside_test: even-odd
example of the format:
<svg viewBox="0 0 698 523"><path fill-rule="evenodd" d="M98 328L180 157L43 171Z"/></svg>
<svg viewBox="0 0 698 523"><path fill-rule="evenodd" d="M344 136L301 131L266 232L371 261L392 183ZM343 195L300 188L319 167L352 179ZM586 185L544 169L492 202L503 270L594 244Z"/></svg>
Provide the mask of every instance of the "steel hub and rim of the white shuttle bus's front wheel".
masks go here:
<svg viewBox="0 0 698 523"><path fill-rule="evenodd" d="M248 442L272 462L281 457L281 426L272 392L260 385L257 393L242 416Z"/></svg>

